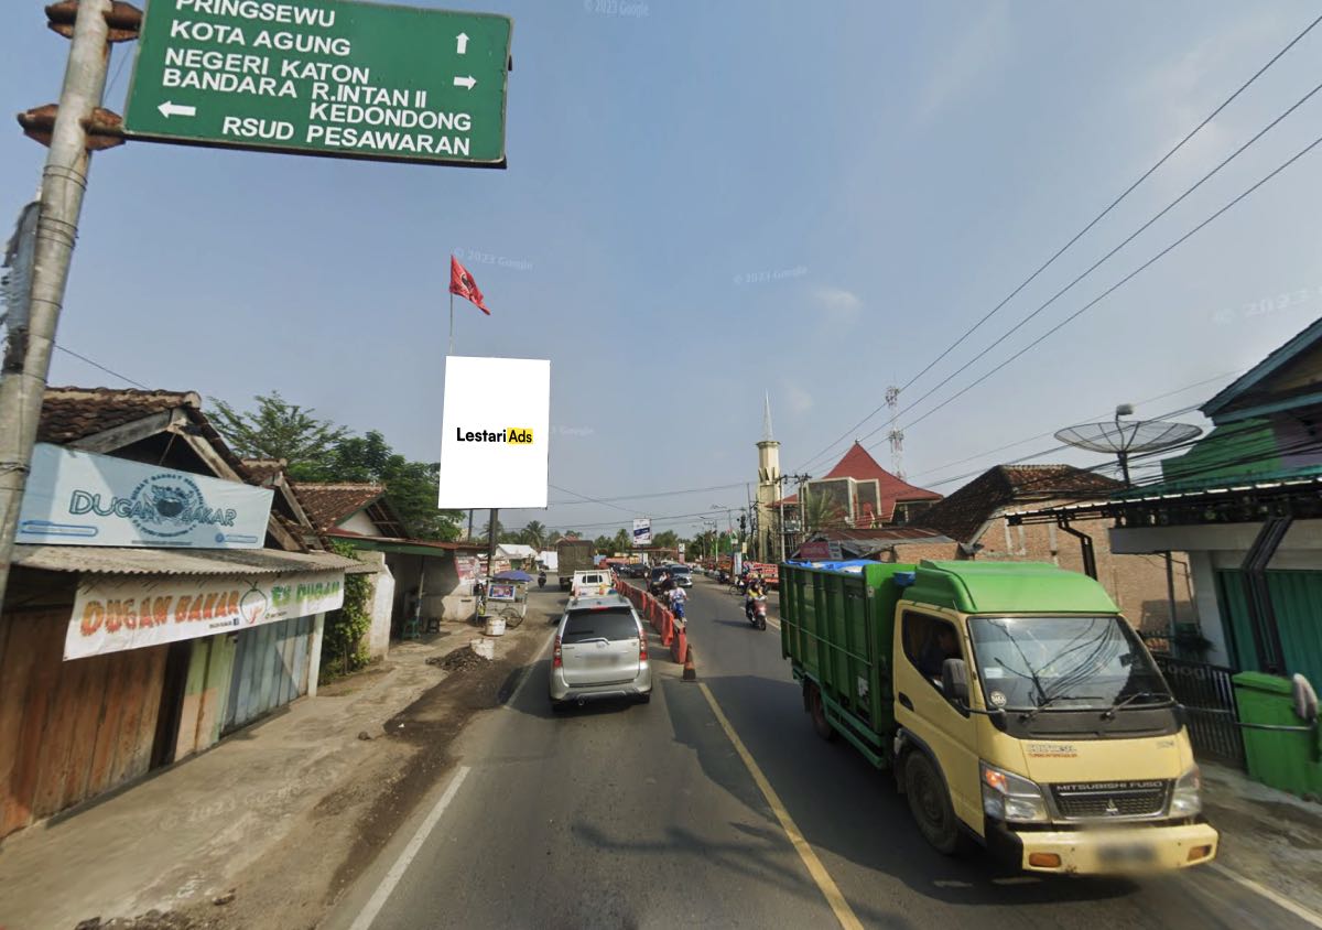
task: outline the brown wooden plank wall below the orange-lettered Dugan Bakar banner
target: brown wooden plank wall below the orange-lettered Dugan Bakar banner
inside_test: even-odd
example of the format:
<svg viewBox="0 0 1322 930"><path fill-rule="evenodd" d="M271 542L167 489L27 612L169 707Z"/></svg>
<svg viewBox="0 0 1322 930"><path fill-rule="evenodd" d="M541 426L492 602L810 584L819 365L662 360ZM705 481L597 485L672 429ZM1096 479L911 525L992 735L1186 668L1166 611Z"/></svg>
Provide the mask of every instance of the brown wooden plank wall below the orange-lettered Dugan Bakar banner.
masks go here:
<svg viewBox="0 0 1322 930"><path fill-rule="evenodd" d="M62 661L67 610L0 618L0 836L147 773L165 651Z"/></svg>

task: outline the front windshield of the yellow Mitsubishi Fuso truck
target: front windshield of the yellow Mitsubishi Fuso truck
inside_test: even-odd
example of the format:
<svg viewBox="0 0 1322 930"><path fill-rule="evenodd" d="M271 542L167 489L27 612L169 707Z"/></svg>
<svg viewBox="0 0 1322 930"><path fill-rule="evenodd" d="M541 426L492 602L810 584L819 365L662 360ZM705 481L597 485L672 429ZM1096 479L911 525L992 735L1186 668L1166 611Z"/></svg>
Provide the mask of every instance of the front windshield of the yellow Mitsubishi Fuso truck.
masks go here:
<svg viewBox="0 0 1322 930"><path fill-rule="evenodd" d="M1124 713L1174 700L1116 616L974 616L969 632L989 708Z"/></svg>

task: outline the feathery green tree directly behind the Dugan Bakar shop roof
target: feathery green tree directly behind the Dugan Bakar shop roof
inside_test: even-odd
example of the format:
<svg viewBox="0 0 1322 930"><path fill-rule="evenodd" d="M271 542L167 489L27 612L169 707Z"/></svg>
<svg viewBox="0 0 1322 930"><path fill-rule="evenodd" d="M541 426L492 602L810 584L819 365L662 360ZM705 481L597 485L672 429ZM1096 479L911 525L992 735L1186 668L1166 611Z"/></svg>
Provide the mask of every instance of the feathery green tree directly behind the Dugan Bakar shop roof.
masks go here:
<svg viewBox="0 0 1322 930"><path fill-rule="evenodd" d="M278 390L253 400L255 410L239 411L212 398L212 419L230 448L243 458L284 459L295 468L319 462L349 437L346 427L317 419L312 407L290 403Z"/></svg>

